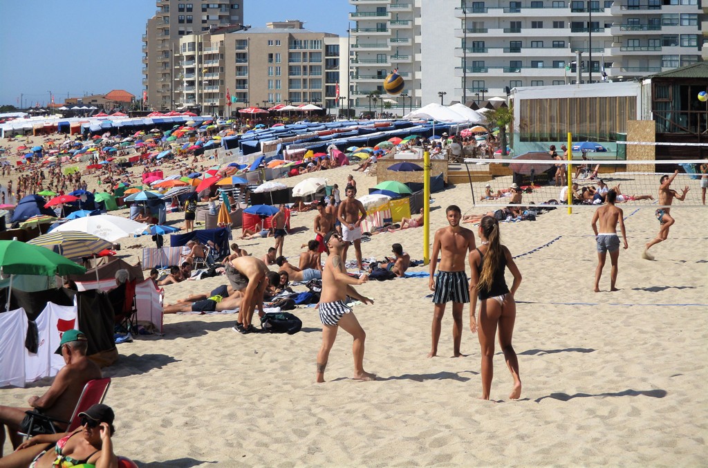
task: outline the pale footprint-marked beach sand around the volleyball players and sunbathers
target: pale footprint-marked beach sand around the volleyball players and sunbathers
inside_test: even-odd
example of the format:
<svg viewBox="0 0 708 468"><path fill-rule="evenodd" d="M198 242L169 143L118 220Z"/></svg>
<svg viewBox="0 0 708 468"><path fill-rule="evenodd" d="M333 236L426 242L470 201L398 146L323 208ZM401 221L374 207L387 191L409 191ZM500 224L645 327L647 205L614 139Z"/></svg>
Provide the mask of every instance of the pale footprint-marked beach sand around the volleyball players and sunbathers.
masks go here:
<svg viewBox="0 0 708 468"><path fill-rule="evenodd" d="M316 175L343 188L350 172ZM354 174L360 194L377 183L375 176ZM294 186L303 178L282 182ZM499 181L508 183L510 178ZM459 205L463 214L486 211L472 207L470 196L467 185L433 194L430 239L447 225L447 205ZM314 308L291 311L303 321L302 332L292 336L234 333L230 314L178 314L165 316L164 336L118 345L118 362L103 370L113 379L105 403L116 414L115 451L140 467L704 466L708 219L702 208L675 205L668 241L652 249L656 261L641 259L658 231L651 203L625 210L629 250L620 253L619 292L612 293L609 262L603 292L593 292L592 207L501 224L502 242L518 256L523 274L515 297L519 401L508 401L511 377L498 349L491 389L497 403L477 399L479 343L469 331L469 309L463 314L464 357L450 358L448 307L439 357L428 359L428 278L372 281L357 289L375 304L354 310L367 333L364 364L378 375L375 382L351 379L351 339L340 331L328 382L314 383L321 341ZM314 214L292 217L293 227L307 231L286 237L285 255L297 255L300 244L314 237ZM182 214L169 215L169 224L178 219ZM464 226L476 236L476 226ZM238 242L254 256L273 246L272 238ZM414 260L423 258L423 228L372 236L362 244L363 255L382 259L394 242ZM142 236L121 244L118 253L135 263L142 246L154 242ZM218 277L170 285L165 302L225 282ZM41 395L48 385L43 380L0 389L0 402L26 406L28 396Z"/></svg>

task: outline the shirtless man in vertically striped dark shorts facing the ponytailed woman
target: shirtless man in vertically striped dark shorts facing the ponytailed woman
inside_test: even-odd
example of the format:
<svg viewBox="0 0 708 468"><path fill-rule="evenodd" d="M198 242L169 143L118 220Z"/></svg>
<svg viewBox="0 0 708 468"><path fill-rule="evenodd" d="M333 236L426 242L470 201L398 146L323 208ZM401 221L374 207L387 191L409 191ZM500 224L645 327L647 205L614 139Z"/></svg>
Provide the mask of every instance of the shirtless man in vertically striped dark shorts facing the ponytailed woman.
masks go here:
<svg viewBox="0 0 708 468"><path fill-rule="evenodd" d="M433 239L433 253L430 256L430 281L428 287L433 291L433 346L430 348L428 358L438 355L438 341L442 316L445 314L445 305L452 301L452 350L455 358L461 356L459 343L462 341L462 307L469 302L469 285L467 274L464 273L464 261L467 254L475 249L474 233L461 227L459 220L462 212L457 205L450 205L445 210L447 227L441 227L435 232ZM435 278L435 267L440 259L440 271Z"/></svg>

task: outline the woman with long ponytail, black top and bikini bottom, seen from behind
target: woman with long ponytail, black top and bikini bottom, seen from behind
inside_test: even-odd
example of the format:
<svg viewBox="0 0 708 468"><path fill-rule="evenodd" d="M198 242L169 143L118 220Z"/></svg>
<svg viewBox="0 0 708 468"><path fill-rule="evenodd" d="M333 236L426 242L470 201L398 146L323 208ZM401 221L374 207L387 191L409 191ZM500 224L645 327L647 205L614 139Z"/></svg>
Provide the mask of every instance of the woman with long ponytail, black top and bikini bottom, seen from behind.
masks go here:
<svg viewBox="0 0 708 468"><path fill-rule="evenodd" d="M516 319L514 293L521 284L521 273L506 246L501 245L499 222L485 216L479 223L481 246L469 253L472 280L469 282L469 329L479 331L482 363L482 399L489 399L493 377L494 336L499 327L499 346L504 353L506 365L514 379L510 399L521 395L521 379L516 353L511 346ZM509 289L504 280L504 270L508 268L514 277ZM479 297L479 322L474 315L476 299Z"/></svg>

